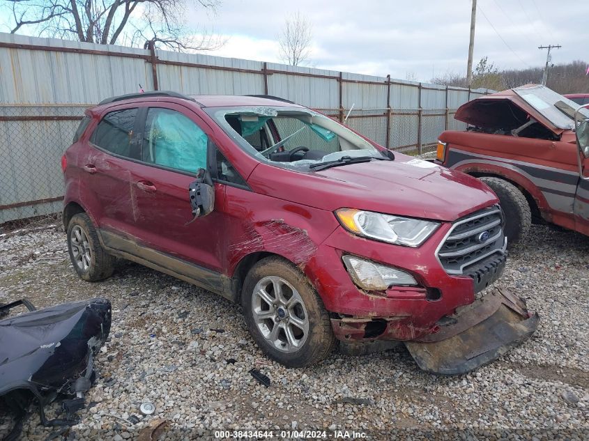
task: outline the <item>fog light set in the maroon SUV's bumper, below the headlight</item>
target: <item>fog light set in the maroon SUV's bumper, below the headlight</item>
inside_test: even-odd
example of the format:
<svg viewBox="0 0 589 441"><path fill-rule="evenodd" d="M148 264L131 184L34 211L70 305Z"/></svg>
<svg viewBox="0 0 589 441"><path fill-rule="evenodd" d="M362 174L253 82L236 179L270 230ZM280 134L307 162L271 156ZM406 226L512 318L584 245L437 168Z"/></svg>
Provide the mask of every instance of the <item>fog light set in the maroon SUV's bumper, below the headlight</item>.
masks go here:
<svg viewBox="0 0 589 441"><path fill-rule="evenodd" d="M391 285L417 285L411 274L354 256L342 257L354 283L367 291L384 291Z"/></svg>

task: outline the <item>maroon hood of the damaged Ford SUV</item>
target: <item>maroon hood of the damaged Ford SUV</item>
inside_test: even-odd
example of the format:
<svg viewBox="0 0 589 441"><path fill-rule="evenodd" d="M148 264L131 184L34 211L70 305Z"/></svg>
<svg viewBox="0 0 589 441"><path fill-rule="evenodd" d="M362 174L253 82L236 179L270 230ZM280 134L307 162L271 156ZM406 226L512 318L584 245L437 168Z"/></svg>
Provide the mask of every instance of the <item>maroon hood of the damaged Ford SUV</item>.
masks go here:
<svg viewBox="0 0 589 441"><path fill-rule="evenodd" d="M487 185L460 171L399 153L395 157L310 173L277 173L276 167L260 164L248 184L255 192L324 210L348 207L441 221L498 201Z"/></svg>

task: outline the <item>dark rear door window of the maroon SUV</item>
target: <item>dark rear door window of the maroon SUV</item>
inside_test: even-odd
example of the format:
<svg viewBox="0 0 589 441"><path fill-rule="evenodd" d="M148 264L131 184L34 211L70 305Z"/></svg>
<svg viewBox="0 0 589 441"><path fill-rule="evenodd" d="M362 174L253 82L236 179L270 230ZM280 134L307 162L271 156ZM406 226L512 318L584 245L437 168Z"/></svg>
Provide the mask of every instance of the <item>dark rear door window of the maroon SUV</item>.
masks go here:
<svg viewBox="0 0 589 441"><path fill-rule="evenodd" d="M116 155L130 157L137 109L111 111L98 123L91 142Z"/></svg>

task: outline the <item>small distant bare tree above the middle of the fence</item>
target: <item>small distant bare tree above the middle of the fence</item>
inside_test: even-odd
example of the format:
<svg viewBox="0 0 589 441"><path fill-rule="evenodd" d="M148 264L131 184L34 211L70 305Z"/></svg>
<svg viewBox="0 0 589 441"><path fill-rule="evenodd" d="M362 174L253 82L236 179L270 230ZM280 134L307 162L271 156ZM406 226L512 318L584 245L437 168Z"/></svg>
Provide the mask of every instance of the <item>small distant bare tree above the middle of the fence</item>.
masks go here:
<svg viewBox="0 0 589 441"><path fill-rule="evenodd" d="M284 29L278 38L280 58L290 65L300 65L311 54L313 38L312 26L300 12L291 14L284 20Z"/></svg>

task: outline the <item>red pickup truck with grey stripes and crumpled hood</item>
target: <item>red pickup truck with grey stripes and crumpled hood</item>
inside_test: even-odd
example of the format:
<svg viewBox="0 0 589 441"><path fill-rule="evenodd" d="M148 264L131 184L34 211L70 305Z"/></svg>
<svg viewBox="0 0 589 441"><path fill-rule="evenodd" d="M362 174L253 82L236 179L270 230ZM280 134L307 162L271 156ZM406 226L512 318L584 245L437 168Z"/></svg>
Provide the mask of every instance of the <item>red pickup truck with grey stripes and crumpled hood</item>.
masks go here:
<svg viewBox="0 0 589 441"><path fill-rule="evenodd" d="M589 151L575 137L577 109L579 126L588 109L534 84L477 98L454 116L466 130L441 134L435 162L494 190L509 243L532 223L589 235Z"/></svg>

